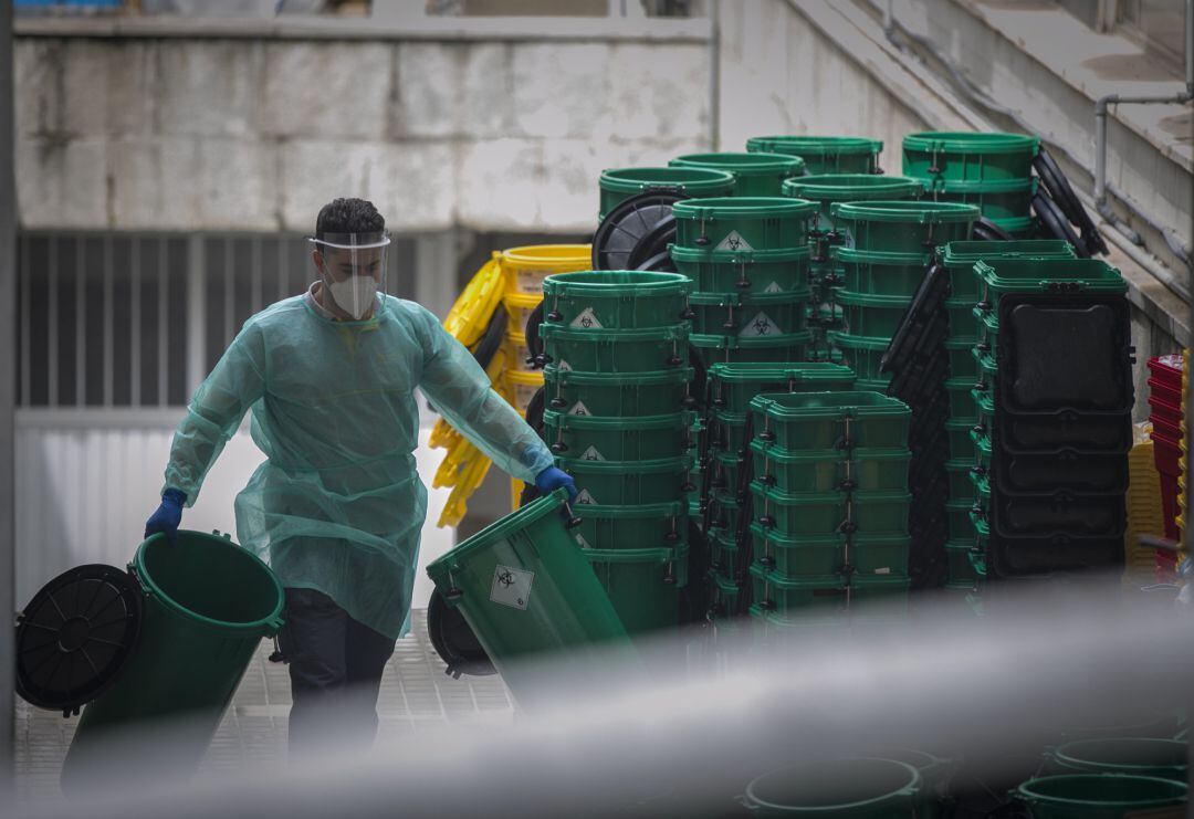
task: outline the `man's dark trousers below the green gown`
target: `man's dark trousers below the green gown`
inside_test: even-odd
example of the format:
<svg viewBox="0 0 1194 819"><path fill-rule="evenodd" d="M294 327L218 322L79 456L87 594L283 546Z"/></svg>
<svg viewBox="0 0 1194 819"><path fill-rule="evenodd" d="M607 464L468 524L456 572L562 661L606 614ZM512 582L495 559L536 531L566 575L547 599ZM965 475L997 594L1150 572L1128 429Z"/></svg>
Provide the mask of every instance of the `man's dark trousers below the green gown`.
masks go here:
<svg viewBox="0 0 1194 819"><path fill-rule="evenodd" d="M290 665L290 755L330 741L368 747L377 733L377 691L394 641L349 616L331 597L287 589L278 635Z"/></svg>

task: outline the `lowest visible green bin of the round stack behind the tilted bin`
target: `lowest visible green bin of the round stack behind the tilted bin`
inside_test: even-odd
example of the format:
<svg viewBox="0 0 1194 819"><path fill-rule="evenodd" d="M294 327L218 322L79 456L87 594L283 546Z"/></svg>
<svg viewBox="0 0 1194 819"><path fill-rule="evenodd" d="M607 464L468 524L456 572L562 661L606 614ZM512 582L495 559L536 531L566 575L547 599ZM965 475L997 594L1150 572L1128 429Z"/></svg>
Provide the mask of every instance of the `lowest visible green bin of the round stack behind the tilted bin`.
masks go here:
<svg viewBox="0 0 1194 819"><path fill-rule="evenodd" d="M688 547L581 549L627 634L675 628L688 585Z"/></svg>

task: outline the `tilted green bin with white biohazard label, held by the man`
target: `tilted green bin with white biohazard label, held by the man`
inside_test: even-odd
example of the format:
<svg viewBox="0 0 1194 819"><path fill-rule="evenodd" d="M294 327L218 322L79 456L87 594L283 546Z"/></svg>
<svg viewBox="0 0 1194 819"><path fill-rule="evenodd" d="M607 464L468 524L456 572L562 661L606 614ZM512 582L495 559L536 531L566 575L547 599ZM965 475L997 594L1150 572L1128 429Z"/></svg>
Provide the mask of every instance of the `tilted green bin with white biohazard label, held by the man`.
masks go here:
<svg viewBox="0 0 1194 819"><path fill-rule="evenodd" d="M622 621L564 525L566 498L564 489L543 495L427 566L516 698L540 694L542 684L519 659L550 654L587 679L624 673L610 652L635 660Z"/></svg>

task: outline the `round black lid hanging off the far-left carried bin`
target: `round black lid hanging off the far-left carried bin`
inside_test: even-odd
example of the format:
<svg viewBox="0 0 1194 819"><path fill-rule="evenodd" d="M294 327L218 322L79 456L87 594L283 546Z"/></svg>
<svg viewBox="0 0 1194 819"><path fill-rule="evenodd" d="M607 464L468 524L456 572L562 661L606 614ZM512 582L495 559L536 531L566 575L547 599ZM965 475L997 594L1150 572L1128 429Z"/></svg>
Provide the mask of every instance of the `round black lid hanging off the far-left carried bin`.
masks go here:
<svg viewBox="0 0 1194 819"><path fill-rule="evenodd" d="M90 564L42 587L17 618L17 694L78 713L119 677L141 635L141 589L128 572Z"/></svg>

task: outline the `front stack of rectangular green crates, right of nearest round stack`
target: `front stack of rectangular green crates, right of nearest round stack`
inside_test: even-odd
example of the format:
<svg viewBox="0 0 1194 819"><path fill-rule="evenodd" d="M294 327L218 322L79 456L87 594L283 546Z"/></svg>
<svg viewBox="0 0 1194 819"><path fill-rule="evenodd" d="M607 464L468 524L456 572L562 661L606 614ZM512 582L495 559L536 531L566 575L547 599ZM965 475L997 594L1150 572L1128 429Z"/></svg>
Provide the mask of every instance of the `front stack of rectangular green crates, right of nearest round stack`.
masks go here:
<svg viewBox="0 0 1194 819"><path fill-rule="evenodd" d="M782 623L904 598L911 411L874 392L751 404L751 615Z"/></svg>

